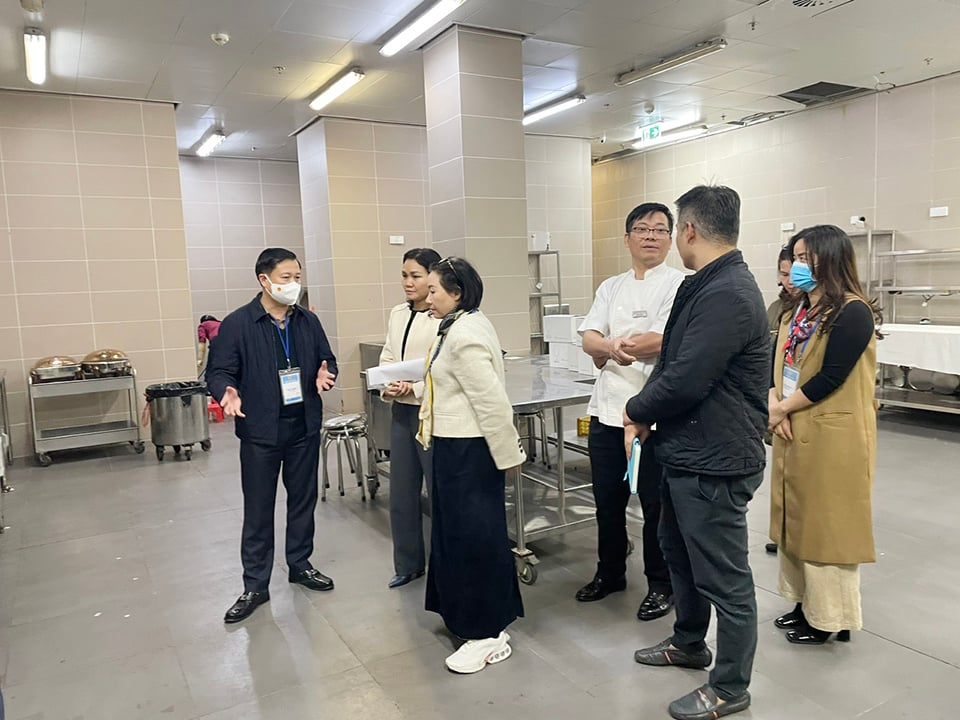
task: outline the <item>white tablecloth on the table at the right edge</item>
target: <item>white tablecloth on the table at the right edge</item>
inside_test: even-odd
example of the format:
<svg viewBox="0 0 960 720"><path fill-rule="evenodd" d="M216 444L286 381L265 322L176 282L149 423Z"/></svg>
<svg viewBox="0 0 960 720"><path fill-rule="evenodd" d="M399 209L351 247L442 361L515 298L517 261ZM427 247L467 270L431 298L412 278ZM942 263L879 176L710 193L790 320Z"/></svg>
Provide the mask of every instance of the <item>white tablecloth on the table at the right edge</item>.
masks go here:
<svg viewBox="0 0 960 720"><path fill-rule="evenodd" d="M960 325L884 325L877 362L960 374Z"/></svg>

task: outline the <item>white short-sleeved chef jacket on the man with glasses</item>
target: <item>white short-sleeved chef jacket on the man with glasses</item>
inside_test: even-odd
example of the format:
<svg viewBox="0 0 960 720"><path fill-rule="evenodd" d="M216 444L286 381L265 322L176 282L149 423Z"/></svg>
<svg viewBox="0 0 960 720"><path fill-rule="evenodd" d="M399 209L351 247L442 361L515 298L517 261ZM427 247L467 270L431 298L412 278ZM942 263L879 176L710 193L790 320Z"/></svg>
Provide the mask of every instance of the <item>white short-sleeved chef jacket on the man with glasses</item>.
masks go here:
<svg viewBox="0 0 960 720"><path fill-rule="evenodd" d="M596 330L604 337L618 338L636 333L663 333L680 283L686 277L666 263L647 270L638 280L633 269L604 280L577 332ZM626 367L608 360L593 386L587 412L610 427L623 427L623 408L653 372L655 358L637 360Z"/></svg>

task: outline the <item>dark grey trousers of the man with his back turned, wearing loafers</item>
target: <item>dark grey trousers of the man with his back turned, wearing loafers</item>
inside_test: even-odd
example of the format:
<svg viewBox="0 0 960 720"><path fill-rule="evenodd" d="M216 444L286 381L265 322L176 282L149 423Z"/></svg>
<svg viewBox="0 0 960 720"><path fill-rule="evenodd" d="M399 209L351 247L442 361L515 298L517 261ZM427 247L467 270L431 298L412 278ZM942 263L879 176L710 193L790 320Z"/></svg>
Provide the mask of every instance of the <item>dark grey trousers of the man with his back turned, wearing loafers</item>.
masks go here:
<svg viewBox="0 0 960 720"><path fill-rule="evenodd" d="M710 685L724 700L750 684L757 649L757 598L747 562L747 503L763 474L716 477L664 468L660 545L670 567L677 618L673 644L704 647L717 610L717 662Z"/></svg>

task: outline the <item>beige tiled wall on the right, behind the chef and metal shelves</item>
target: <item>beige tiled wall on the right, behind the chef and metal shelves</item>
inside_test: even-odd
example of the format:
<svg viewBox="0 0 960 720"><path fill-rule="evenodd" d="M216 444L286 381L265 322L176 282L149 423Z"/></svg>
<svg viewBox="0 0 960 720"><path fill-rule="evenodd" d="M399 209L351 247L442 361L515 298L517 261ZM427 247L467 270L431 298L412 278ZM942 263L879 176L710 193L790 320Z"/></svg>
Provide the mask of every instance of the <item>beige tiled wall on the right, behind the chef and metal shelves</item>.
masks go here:
<svg viewBox="0 0 960 720"><path fill-rule="evenodd" d="M852 215L894 230L899 249L960 247L960 77L897 88L819 110L594 166L594 283L629 265L623 219L642 200L672 203L693 185L729 185L742 198L740 246L767 299L789 232ZM948 217L929 217L936 206ZM855 247L865 252L863 239ZM676 263L676 253L671 253ZM960 284L960 260L905 264L904 284ZM899 300L900 319L960 322L960 295Z"/></svg>

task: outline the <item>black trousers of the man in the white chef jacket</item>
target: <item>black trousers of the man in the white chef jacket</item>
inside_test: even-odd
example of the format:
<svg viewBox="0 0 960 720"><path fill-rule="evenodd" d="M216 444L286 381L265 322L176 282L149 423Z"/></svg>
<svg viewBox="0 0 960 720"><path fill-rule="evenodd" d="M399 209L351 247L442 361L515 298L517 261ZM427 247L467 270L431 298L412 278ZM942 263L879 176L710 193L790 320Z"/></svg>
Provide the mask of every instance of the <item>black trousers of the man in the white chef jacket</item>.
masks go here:
<svg viewBox="0 0 960 720"><path fill-rule="evenodd" d="M627 571L627 503L630 486L624 482L627 454L623 428L604 425L590 418L590 472L593 499L597 505L597 575L616 580ZM643 510L643 573L651 591L670 592L670 572L660 550L657 526L660 523L660 464L653 443L643 446L637 495Z"/></svg>

